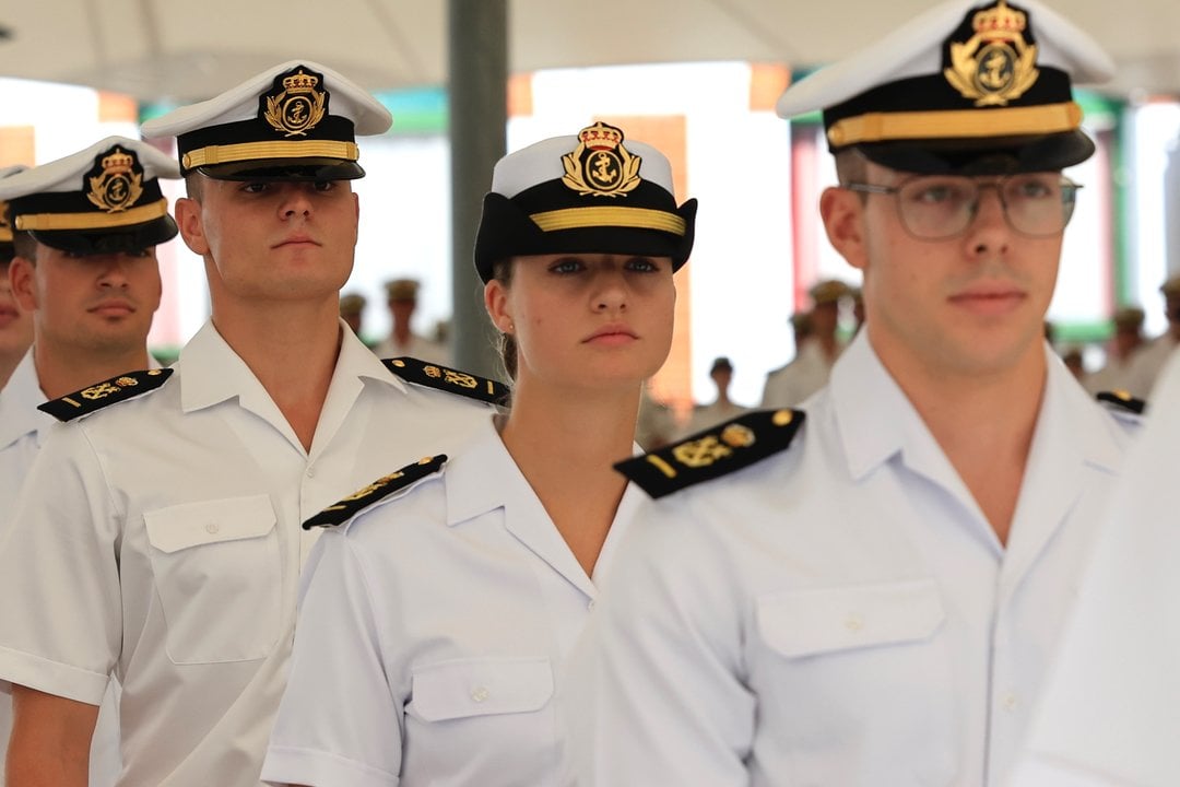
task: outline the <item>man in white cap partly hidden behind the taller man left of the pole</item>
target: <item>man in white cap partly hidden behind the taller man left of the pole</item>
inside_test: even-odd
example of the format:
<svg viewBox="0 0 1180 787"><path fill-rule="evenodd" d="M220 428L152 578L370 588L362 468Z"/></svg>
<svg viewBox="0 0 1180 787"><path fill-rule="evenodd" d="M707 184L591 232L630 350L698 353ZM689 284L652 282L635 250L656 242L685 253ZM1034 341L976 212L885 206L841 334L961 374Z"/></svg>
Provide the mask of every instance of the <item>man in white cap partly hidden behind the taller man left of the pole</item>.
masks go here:
<svg viewBox="0 0 1180 787"><path fill-rule="evenodd" d="M170 157L124 137L21 169L0 181L17 228L4 287L28 315L34 341L0 391L0 538L54 422L38 406L158 366L148 354L160 299L156 247L176 237L159 179L181 176ZM96 786L118 774L117 696L112 682L91 752ZM12 688L0 682L0 752L11 727Z"/></svg>

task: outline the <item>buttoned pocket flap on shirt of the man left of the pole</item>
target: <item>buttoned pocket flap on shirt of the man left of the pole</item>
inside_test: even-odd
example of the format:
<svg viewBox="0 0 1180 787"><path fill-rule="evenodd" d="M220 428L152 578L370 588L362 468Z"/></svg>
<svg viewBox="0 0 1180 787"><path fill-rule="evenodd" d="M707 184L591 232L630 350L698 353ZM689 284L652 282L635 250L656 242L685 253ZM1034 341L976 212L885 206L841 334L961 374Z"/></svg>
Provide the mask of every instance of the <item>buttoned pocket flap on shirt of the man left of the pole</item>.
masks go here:
<svg viewBox="0 0 1180 787"><path fill-rule="evenodd" d="M160 552L190 546L257 538L277 522L267 494L184 503L144 511L148 540Z"/></svg>

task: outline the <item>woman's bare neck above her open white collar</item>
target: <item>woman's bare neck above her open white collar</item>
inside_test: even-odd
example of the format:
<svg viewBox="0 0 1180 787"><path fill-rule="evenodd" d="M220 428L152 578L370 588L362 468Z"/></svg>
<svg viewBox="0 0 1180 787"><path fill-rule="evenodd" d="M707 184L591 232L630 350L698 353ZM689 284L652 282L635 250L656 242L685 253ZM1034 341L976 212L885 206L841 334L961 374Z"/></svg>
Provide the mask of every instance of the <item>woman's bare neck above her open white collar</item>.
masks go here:
<svg viewBox="0 0 1180 787"><path fill-rule="evenodd" d="M557 391L531 380L513 389L500 438L586 576L610 531L631 455L640 382L625 391Z"/></svg>

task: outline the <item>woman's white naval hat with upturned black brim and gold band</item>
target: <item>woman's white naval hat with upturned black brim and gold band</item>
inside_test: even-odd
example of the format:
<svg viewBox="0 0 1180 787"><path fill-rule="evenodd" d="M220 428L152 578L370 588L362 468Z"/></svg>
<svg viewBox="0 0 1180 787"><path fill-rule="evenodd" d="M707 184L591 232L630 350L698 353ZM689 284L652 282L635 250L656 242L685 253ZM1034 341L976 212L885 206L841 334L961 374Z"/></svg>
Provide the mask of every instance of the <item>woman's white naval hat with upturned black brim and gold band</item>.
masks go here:
<svg viewBox="0 0 1180 787"><path fill-rule="evenodd" d="M486 283L497 261L535 254L671 257L677 270L693 250L695 219L696 199L676 206L664 155L599 122L497 162L476 270Z"/></svg>

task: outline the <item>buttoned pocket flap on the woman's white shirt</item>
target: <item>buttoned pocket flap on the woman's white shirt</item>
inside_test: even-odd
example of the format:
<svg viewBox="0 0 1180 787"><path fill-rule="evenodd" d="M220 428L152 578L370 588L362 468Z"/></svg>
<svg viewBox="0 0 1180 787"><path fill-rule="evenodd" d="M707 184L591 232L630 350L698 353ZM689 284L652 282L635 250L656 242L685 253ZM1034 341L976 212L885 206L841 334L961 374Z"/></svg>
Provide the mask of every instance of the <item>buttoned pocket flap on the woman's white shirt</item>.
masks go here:
<svg viewBox="0 0 1180 787"><path fill-rule="evenodd" d="M413 708L426 721L539 710L553 695L548 658L431 664L413 674Z"/></svg>

